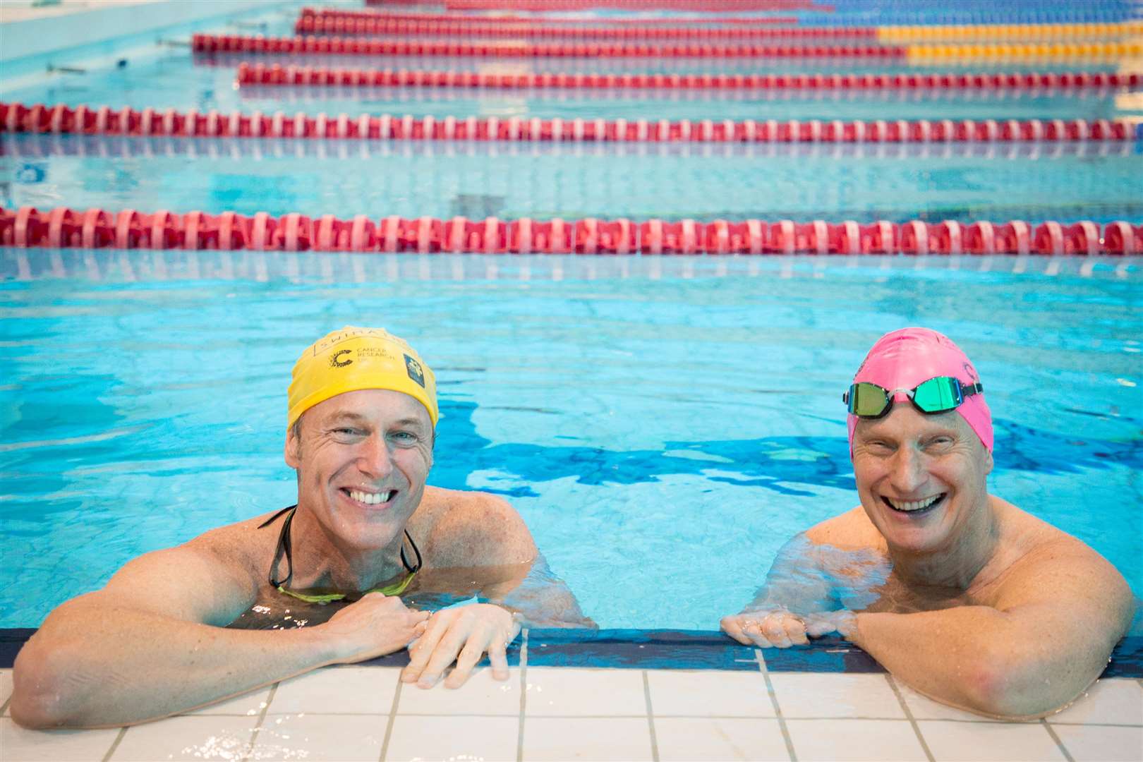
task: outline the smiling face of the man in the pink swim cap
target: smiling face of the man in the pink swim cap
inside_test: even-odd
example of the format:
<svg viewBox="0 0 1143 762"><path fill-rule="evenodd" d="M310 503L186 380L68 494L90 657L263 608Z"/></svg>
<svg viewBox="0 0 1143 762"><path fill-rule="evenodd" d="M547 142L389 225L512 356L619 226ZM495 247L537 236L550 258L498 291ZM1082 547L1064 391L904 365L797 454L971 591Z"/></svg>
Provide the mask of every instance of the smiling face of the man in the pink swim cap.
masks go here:
<svg viewBox="0 0 1143 762"><path fill-rule="evenodd" d="M884 418L857 422L853 460L862 507L890 550L946 551L975 536L992 455L956 412L898 399Z"/></svg>

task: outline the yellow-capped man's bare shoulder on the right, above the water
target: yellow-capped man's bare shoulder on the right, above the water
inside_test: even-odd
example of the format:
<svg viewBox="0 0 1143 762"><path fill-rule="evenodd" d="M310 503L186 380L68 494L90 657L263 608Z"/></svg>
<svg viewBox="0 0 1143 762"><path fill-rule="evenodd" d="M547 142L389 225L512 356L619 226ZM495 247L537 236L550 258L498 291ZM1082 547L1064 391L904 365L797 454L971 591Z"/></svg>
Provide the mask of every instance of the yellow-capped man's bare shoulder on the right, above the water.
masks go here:
<svg viewBox="0 0 1143 762"><path fill-rule="evenodd" d="M536 556L523 519L489 492L426 487L410 529L424 538L434 566L520 563Z"/></svg>

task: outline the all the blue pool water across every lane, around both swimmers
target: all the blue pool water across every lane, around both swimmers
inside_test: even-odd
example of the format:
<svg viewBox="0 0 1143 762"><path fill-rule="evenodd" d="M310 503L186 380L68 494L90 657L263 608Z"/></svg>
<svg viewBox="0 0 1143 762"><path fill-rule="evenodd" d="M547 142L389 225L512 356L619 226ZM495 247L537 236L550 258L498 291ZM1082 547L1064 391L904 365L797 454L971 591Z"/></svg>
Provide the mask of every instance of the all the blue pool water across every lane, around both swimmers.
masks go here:
<svg viewBox="0 0 1143 762"><path fill-rule="evenodd" d="M988 10L969 5L961 10ZM217 31L282 33L296 10ZM858 11L845 17L860 22ZM96 62L86 73L0 90L25 103L351 115L1143 115L1138 93L235 89L232 65L195 65L185 47L123 55L125 67ZM773 64L720 71L750 66ZM1132 142L583 146L5 135L0 204L374 219L1137 222L1141 155ZM1095 546L1138 594L1141 272L1137 259L0 249L0 627L38 625L139 553L291 503L294 475L281 460L289 369L313 338L345 323L385 326L417 346L438 372L445 415L430 483L511 499L602 627L714 628L752 597L790 536L855 505L840 393L877 336L906 324L952 336L986 379L997 425L991 491Z"/></svg>

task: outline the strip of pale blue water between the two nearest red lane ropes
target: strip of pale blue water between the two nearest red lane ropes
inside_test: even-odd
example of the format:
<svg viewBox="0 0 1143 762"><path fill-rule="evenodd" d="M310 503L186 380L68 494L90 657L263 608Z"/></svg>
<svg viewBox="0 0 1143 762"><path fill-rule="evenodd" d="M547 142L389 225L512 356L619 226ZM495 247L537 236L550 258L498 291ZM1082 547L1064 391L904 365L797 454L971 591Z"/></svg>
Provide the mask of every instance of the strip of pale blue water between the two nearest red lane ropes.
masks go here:
<svg viewBox="0 0 1143 762"><path fill-rule="evenodd" d="M1143 217L1143 144L608 145L5 136L5 206L376 219ZM7 169L7 171L5 171Z"/></svg>

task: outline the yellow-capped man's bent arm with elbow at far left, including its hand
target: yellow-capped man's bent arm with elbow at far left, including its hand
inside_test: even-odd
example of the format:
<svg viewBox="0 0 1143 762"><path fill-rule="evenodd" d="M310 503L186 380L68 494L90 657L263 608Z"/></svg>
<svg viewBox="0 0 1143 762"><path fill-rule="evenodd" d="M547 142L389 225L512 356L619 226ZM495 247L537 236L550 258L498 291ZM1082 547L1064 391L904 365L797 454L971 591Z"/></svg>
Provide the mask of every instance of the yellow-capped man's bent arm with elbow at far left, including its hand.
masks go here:
<svg viewBox="0 0 1143 762"><path fill-rule="evenodd" d="M27 728L154 720L313 669L403 648L424 613L367 595L323 625L221 626L257 585L201 543L150 553L51 612L19 652L13 717ZM365 604L365 605L362 605Z"/></svg>

